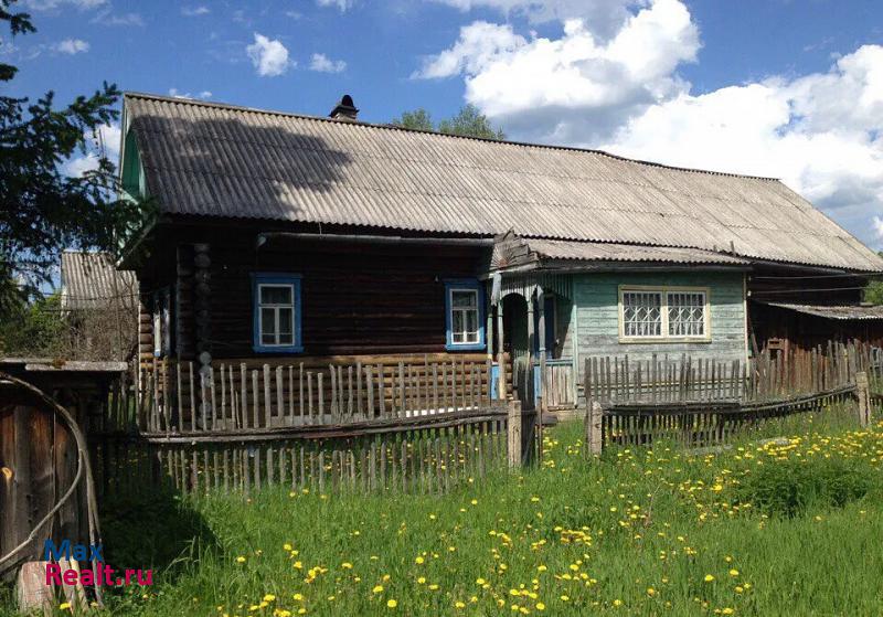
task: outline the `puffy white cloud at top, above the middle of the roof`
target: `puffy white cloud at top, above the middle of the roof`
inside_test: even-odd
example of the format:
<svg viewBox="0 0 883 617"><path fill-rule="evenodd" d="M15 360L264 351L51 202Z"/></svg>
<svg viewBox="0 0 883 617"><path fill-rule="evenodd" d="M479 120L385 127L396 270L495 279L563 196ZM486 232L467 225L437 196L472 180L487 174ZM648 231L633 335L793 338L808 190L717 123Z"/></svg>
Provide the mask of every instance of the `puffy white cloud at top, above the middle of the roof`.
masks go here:
<svg viewBox="0 0 883 617"><path fill-rule="evenodd" d="M700 47L679 0L656 0L606 41L582 19L560 39L525 39L511 24L474 22L416 76L462 74L466 99L525 139L599 139L624 120L684 87L673 74Z"/></svg>

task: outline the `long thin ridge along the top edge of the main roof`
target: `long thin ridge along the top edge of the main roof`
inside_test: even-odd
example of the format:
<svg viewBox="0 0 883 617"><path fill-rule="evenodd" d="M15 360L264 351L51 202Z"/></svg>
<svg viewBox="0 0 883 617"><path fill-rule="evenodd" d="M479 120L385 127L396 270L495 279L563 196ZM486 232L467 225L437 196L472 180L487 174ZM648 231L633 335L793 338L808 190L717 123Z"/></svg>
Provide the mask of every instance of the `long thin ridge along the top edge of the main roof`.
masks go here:
<svg viewBox="0 0 883 617"><path fill-rule="evenodd" d="M172 104L177 104L177 105L195 105L195 106L200 106L200 107L214 107L214 108L219 108L219 109L228 109L228 110L233 110L233 111L246 111L246 113L249 113L249 114L263 114L263 115L266 115L266 116L283 116L283 117L288 117L288 118L300 118L300 119L305 119L305 120L315 120L315 121L320 121L320 123L340 124L340 120L336 120L333 118L326 118L326 117L322 117L322 116L311 116L309 114L295 114L292 111L278 111L278 110L274 110L274 109L260 109L258 107L247 107L247 106L243 106L243 105L233 105L233 104L230 104L230 103L221 103L221 102L215 102L215 100L199 100L199 99L195 99L195 98L184 98L184 97L179 97L179 96L166 96L166 95L142 93L142 92L134 92L134 91L124 92L123 93L123 97L124 97L124 105L125 105L126 98L142 98L142 99L148 99L148 100L160 100L160 102L164 102L164 103L172 103ZM709 175L724 175L724 177L730 177L730 178L743 178L743 179L749 179L749 180L763 180L763 181L767 181L767 182L781 182L781 180L779 178L773 178L773 177L768 177L768 175L751 175L751 174L747 174L747 173L735 173L735 172L728 172L728 171L715 171L715 170L711 170L711 169L679 167L679 166L666 164L666 163L661 163L661 162L657 162L657 161L634 159L634 158L630 158L630 157L624 157L621 155L614 155L613 152L607 152L605 150L599 150L599 149L595 149L595 148L577 148L575 146L556 146L556 145L552 145L552 143L534 143L534 142L530 142L530 141L515 141L515 140L512 140L512 139L490 139L490 138L486 138L486 137L474 137L474 136L469 136L469 135L456 135L456 134L450 134L450 132L440 132L440 131L437 131L437 130L425 130L425 129L418 129L418 128L401 127L401 126L392 125L392 124L365 123L365 121L362 121L362 120L359 120L358 123L347 123L347 125L348 126L362 126L362 127L366 127L366 128L374 128L374 129L381 129L381 130L402 130L402 131L407 131L407 132L421 132L421 134L425 134L425 135L435 135L435 136L448 137L448 138L454 138L454 139L467 139L467 140L472 140L472 141L483 141L483 142L488 142L488 143L502 143L502 145L508 145L508 146L521 146L521 147L525 147L525 148L542 148L542 149L550 149L550 150L564 150L564 151L571 151L571 152L586 152L586 153L592 153L592 155L599 155L599 156L603 156L603 157L609 157L611 159L626 161L626 162L631 162L631 163L636 163L636 164L643 164L643 166L648 166L648 167L658 167L658 168L661 168L661 169L670 169L670 170L673 170L673 171L685 171L685 172L689 172L689 173L703 173L703 174L709 174Z"/></svg>

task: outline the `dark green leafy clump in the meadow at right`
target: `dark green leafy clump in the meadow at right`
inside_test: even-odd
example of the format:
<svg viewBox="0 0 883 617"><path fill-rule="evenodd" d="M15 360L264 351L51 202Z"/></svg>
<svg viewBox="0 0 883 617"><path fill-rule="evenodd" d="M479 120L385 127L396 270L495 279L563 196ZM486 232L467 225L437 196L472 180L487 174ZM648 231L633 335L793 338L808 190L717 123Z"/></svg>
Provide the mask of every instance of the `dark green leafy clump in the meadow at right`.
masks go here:
<svg viewBox="0 0 883 617"><path fill-rule="evenodd" d="M770 517L794 518L810 509L842 508L863 498L873 483L869 470L852 461L792 458L753 470L737 497Z"/></svg>

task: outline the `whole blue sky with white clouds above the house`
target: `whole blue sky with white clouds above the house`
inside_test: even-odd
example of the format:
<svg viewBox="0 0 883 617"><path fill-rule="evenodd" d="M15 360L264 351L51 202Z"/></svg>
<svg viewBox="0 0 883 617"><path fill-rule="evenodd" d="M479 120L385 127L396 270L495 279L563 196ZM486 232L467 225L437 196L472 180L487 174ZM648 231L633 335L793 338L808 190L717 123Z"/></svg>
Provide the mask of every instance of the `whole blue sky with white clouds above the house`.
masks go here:
<svg viewBox="0 0 883 617"><path fill-rule="evenodd" d="M880 0L19 6L39 32L3 33L21 70L3 94L66 102L106 79L325 115L349 93L379 123L470 102L515 139L783 178L883 248Z"/></svg>

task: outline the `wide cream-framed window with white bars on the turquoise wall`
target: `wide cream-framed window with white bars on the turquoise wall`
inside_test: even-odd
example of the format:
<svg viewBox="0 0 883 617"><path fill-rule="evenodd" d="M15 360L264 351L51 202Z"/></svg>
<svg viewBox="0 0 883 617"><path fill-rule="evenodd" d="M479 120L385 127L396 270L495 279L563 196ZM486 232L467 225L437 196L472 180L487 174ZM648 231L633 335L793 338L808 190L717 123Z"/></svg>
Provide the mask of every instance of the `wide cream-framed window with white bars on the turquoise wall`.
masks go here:
<svg viewBox="0 0 883 617"><path fill-rule="evenodd" d="M706 289L620 287L623 340L700 340L709 337Z"/></svg>

